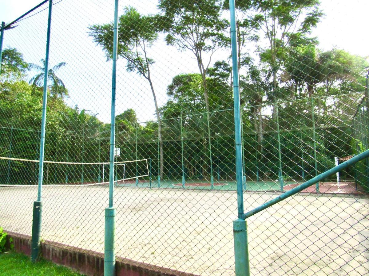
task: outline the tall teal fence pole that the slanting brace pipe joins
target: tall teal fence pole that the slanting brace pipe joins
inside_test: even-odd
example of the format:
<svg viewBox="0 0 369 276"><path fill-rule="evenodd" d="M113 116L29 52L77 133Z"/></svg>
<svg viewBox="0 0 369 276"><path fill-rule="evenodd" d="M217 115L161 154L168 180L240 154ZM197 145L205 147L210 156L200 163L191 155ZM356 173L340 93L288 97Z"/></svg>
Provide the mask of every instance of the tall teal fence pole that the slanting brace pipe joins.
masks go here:
<svg viewBox="0 0 369 276"><path fill-rule="evenodd" d="M233 221L233 238L235 253L235 272L237 276L250 275L249 253L247 241L247 224L244 216L244 191L242 175L242 145L241 145L241 110L239 102L238 57L236 37L236 8L235 0L230 0L231 15L231 46L233 71L233 100L234 100L234 127L236 151L236 180L237 180L237 210L238 219Z"/></svg>

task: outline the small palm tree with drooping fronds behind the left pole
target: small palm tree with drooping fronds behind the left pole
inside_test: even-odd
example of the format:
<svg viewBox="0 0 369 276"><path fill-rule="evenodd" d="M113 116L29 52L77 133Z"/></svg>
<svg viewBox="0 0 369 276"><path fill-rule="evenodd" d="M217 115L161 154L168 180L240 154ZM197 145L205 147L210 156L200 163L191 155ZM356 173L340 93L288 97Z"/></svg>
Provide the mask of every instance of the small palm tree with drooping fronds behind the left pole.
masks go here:
<svg viewBox="0 0 369 276"><path fill-rule="evenodd" d="M44 78L45 78L45 60L41 59L42 66L39 66L38 64L30 63L29 68L35 69L40 71L38 74L34 75L30 79L30 84L33 86L42 87L44 85ZM55 71L59 68L65 66L65 62L61 62L56 64L54 67L49 69L49 81L52 83L50 85L50 93L55 96L61 96L62 98L68 94L67 89L65 88L64 82L55 75Z"/></svg>

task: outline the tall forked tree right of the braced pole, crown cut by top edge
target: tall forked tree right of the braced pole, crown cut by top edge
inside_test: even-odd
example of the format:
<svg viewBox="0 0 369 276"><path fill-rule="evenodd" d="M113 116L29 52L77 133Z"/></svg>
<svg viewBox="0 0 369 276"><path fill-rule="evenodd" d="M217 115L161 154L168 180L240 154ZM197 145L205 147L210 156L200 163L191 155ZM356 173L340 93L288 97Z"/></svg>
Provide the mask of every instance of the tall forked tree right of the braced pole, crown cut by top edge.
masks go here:
<svg viewBox="0 0 369 276"><path fill-rule="evenodd" d="M241 3L241 2L240 2ZM323 13L318 8L318 0L249 0L249 18L258 26L268 42L266 49L260 50L261 60L272 71L272 93L270 98L276 102L279 98L277 72L281 68L285 48L301 35L311 32L320 21ZM276 118L276 106L273 105L273 119Z"/></svg>

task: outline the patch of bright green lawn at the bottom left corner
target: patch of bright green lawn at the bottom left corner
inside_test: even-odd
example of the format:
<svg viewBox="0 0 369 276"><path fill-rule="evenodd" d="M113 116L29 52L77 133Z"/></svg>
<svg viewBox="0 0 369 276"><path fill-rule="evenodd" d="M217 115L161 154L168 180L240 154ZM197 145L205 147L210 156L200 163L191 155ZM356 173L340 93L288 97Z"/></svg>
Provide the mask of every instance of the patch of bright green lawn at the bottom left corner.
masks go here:
<svg viewBox="0 0 369 276"><path fill-rule="evenodd" d="M15 275L80 275L65 266L55 265L46 260L41 260L37 263L31 263L30 257L16 253L14 251L8 253L0 253L0 276L15 276Z"/></svg>

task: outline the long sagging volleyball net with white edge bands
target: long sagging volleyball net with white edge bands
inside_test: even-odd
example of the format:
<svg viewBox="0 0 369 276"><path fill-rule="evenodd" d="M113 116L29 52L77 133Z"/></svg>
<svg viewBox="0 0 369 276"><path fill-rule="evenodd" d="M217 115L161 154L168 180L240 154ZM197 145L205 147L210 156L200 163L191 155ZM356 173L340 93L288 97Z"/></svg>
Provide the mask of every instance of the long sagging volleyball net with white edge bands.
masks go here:
<svg viewBox="0 0 369 276"><path fill-rule="evenodd" d="M114 183L145 181L149 177L149 159L114 162ZM38 184L39 160L0 156L0 185L24 186ZM108 185L109 162L44 161L44 185Z"/></svg>

